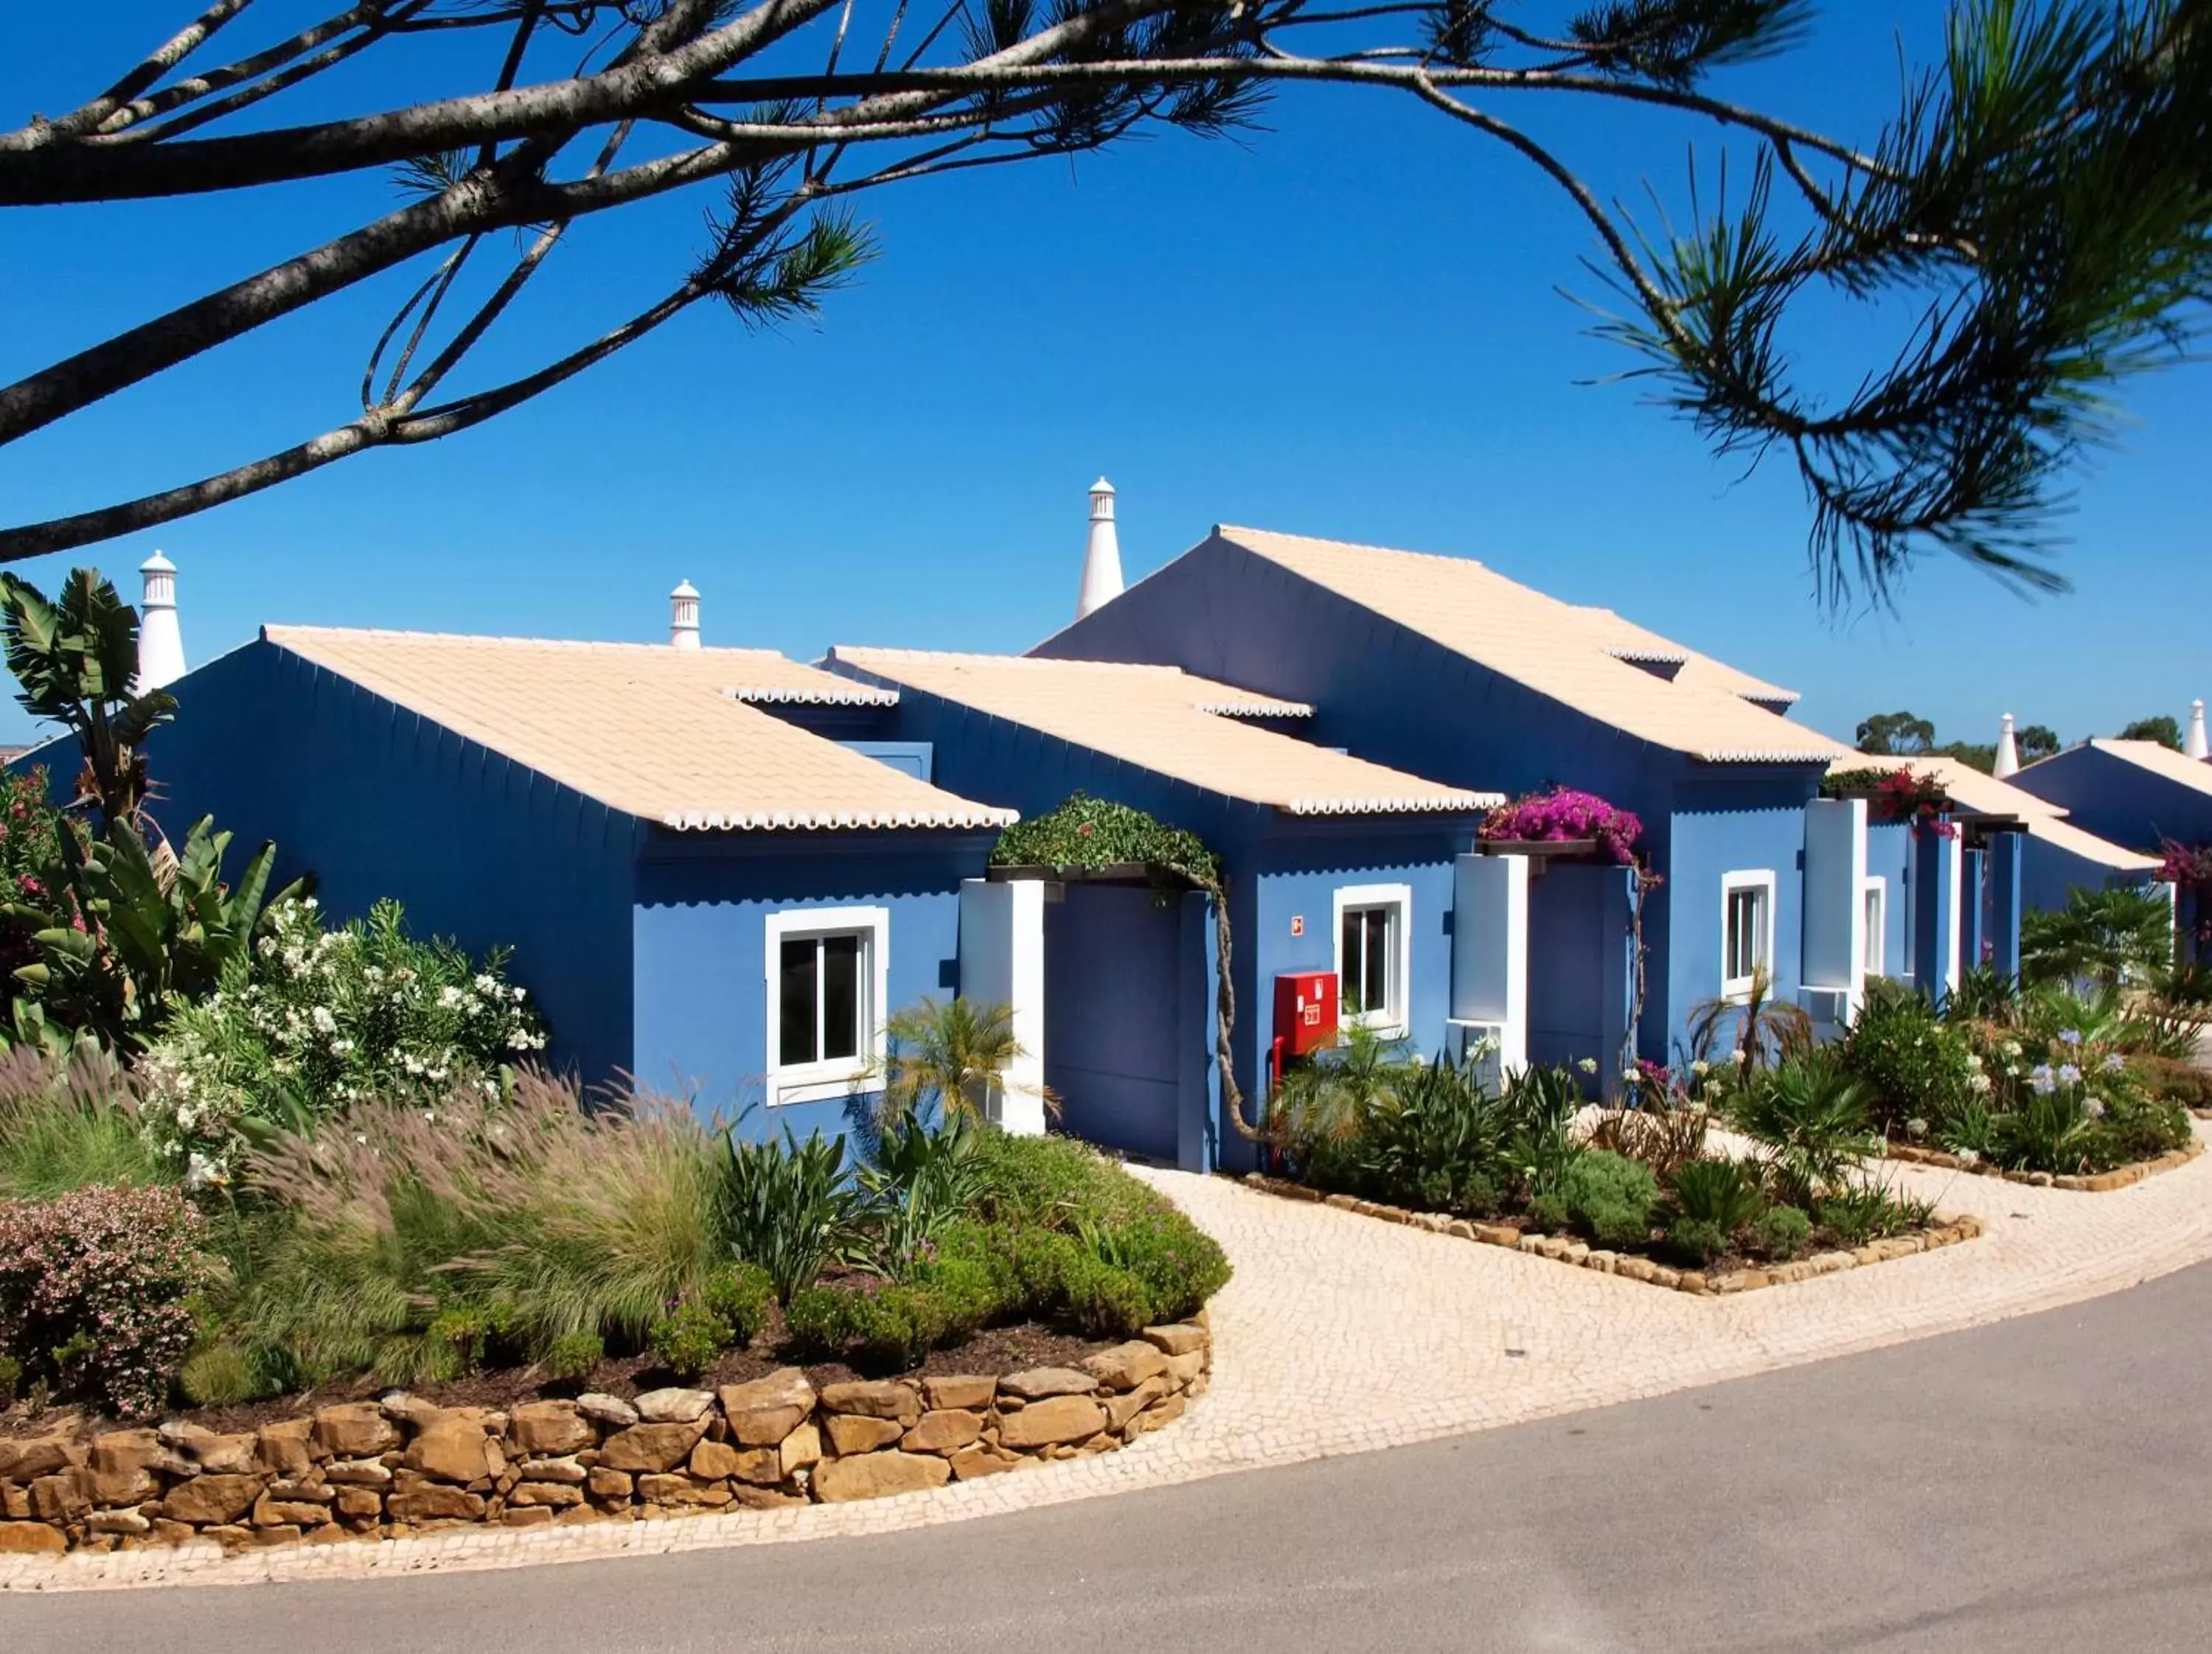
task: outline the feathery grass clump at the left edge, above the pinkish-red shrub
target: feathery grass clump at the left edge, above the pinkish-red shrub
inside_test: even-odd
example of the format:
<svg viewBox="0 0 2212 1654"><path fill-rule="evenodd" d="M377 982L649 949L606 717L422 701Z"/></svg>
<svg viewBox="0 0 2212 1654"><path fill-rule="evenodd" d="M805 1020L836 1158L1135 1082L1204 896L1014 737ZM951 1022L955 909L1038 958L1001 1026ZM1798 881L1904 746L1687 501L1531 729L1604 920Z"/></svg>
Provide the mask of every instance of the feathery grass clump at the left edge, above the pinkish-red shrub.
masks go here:
<svg viewBox="0 0 2212 1654"><path fill-rule="evenodd" d="M93 1183L175 1181L139 1123L137 1086L97 1050L0 1055L0 1201L51 1201Z"/></svg>

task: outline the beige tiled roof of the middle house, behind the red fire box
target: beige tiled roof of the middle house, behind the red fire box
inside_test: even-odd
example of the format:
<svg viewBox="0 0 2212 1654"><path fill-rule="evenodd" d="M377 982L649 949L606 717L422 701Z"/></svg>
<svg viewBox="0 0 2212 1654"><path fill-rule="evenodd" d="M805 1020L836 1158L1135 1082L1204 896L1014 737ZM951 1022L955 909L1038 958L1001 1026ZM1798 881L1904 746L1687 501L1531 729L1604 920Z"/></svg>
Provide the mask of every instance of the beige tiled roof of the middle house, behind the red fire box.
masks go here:
<svg viewBox="0 0 2212 1654"><path fill-rule="evenodd" d="M1175 666L1051 661L1002 655L834 648L830 659L1139 770L1292 816L1475 812L1500 803L1316 747L1234 714L1296 705L1190 677ZM1232 716L1223 716L1232 710Z"/></svg>

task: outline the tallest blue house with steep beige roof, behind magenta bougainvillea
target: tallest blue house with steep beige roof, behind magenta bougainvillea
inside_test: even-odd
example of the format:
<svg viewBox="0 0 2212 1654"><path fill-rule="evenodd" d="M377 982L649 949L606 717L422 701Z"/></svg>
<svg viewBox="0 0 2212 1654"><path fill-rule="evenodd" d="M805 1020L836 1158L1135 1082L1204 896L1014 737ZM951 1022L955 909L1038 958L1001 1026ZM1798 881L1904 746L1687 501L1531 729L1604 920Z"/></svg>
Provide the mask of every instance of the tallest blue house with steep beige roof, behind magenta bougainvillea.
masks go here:
<svg viewBox="0 0 2212 1654"><path fill-rule="evenodd" d="M1312 703L1316 743L1376 763L1506 792L1564 783L1632 809L1661 880L1644 904L1648 1057L1754 966L1781 997L1856 995L1803 964L1807 807L1849 750L1781 716L1790 690L1610 610L1464 557L1219 526L1035 652L1181 666ZM1535 1061L1577 1055L1571 1037L1624 1004L1628 882L1595 873L1531 880Z"/></svg>

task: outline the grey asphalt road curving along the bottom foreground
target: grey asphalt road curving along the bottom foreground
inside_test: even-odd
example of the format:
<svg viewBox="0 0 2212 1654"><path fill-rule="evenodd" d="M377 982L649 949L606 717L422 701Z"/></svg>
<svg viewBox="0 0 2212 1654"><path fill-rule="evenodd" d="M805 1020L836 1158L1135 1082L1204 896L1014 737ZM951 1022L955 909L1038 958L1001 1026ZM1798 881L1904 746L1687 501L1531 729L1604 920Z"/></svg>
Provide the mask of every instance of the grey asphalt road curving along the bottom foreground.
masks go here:
<svg viewBox="0 0 2212 1654"><path fill-rule="evenodd" d="M0 1599L0 1650L2205 1650L2212 1265L1557 1422L883 1539Z"/></svg>

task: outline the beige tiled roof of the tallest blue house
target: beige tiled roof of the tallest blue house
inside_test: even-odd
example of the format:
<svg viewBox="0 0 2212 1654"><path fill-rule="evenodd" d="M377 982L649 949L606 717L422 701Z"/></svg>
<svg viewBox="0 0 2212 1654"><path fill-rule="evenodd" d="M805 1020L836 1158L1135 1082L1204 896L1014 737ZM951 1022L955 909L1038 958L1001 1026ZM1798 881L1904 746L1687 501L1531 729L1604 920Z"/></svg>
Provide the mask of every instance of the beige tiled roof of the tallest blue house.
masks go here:
<svg viewBox="0 0 2212 1654"><path fill-rule="evenodd" d="M1265 528L1217 526L1234 546L1325 586L1455 655L1478 661L1599 723L1705 763L1820 763L1838 743L1743 699L1781 694L1719 661L1681 650L1610 610L1577 608L1469 557L1352 546ZM1672 681L1619 652L1683 657Z"/></svg>

